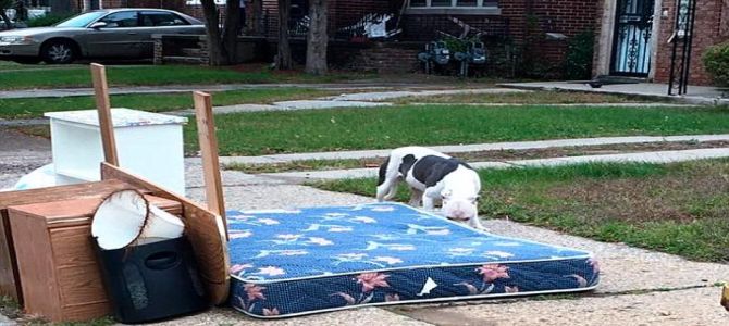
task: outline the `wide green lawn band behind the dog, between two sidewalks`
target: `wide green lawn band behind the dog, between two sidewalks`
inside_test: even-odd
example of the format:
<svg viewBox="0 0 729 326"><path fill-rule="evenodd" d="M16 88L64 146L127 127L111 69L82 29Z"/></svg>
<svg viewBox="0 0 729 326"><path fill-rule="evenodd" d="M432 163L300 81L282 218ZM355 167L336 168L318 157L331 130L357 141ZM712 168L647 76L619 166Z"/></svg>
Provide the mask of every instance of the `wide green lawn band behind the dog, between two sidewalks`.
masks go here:
<svg viewBox="0 0 729 326"><path fill-rule="evenodd" d="M557 138L729 133L729 109L394 106L215 117L222 155ZM197 150L195 124L186 126Z"/></svg>

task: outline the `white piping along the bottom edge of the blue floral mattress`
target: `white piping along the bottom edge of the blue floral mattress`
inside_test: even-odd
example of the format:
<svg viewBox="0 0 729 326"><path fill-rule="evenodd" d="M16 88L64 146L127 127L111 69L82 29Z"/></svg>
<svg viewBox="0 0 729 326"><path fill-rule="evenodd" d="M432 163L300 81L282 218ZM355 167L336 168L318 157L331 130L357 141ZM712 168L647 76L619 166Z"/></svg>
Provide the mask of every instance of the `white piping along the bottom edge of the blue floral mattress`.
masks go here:
<svg viewBox="0 0 729 326"><path fill-rule="evenodd" d="M491 299L491 298L504 298L504 297L526 297L526 296L539 296L539 294L557 294L557 293L569 293L569 292L586 292L592 291L597 288L597 285L586 287L586 288L574 288L574 289L561 289L561 290L549 290L549 291L531 291L531 292L516 292L516 293L494 293L494 294L475 294L475 296L458 296L458 297L441 297L433 299L420 299L420 300L403 300L403 301L387 301L387 302L374 302L366 304L354 304L354 305L344 305L337 308L329 308L321 310L305 311L293 314L285 315L275 315L275 316L261 316L251 314L245 310L238 309L238 306L233 305L233 309L255 318L259 319L277 319L284 317L296 317L310 315L316 313L325 313L334 312L347 309L364 308L364 306L378 306L378 305L395 305L395 304L411 304L411 303L429 303L429 302L443 302L443 301L458 301L458 300L474 300L474 299Z"/></svg>

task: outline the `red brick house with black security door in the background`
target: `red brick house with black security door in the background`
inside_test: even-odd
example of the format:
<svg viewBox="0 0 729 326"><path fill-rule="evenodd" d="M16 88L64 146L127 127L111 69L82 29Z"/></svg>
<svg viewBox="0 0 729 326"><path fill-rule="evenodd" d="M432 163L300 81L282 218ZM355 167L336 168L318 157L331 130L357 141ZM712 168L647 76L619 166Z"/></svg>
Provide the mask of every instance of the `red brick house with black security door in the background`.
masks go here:
<svg viewBox="0 0 729 326"><path fill-rule="evenodd" d="M404 5L404 0L330 0L329 21L330 34L334 37L337 37L336 30L357 23L368 13L394 14L391 24L403 28L398 42L379 43L366 50L337 50L334 58L354 55L357 64L351 67L412 70L417 66L415 53L425 41L437 38L437 30L455 35L462 30L452 20L455 17L482 32L493 55L503 57L494 58L495 64L510 61L516 66L524 66L527 60L532 64L529 70L551 71L553 74L547 76L559 77L569 40L592 30L595 36L593 76L632 76L666 83L671 64L671 46L667 40L675 30L676 8L688 1L409 0ZM696 1L690 80L704 85L711 79L703 70L701 54L707 47L729 39L729 0ZM95 3L102 8L168 8L201 17L196 0L76 2L85 8ZM276 0L262 0L260 21L269 37L276 35ZM306 15L308 0L292 0L291 12L293 21ZM248 14L252 14L251 11Z"/></svg>

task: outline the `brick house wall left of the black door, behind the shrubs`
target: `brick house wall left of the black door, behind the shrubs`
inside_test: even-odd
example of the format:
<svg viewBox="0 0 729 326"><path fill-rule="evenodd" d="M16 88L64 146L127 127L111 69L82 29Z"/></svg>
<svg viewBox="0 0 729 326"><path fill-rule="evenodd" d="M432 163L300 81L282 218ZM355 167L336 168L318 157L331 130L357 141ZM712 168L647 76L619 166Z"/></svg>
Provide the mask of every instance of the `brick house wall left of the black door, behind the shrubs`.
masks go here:
<svg viewBox="0 0 729 326"><path fill-rule="evenodd" d="M297 0L293 0L295 2ZM403 0L330 0L330 33L337 28L357 23L368 13L399 13ZM156 0L108 0L107 3L122 5L126 3L131 7L159 7ZM134 2L134 3L131 3ZM165 8L181 10L190 15L201 17L202 12L199 5L170 7L169 1L164 1ZM561 33L568 37L574 36L585 29L596 29L598 21L600 1L595 0L499 0L502 14L499 15L456 15L455 17L467 24L484 32L486 45L491 47L490 41L505 41L510 39L514 45L519 47L524 40L530 40L532 48L539 49L535 52L538 59L545 63L545 66L558 70L559 63L564 61L566 52L566 41L546 40L545 33ZM263 13L265 15L267 34L269 36L277 35L277 0L263 0ZM528 18L529 17L529 18ZM531 25L530 25L531 24ZM528 28L530 27L531 28ZM404 29L400 40L420 41L413 48L400 47L392 49L387 47L374 47L369 52L361 55L360 62L363 68L375 67L376 65L386 66L395 64L399 66L417 66L416 54L422 48L424 41L436 38L436 30L443 30L449 34L458 34L461 29L453 23L448 15L406 15L400 22ZM531 34L530 34L531 33ZM397 47L396 47L397 48ZM509 50L504 47L490 49L492 53L508 55ZM398 63L388 63L387 58L397 60ZM493 58L492 58L493 59ZM409 63L401 63L409 60ZM506 60L506 59L499 59ZM400 70L400 67L393 67Z"/></svg>

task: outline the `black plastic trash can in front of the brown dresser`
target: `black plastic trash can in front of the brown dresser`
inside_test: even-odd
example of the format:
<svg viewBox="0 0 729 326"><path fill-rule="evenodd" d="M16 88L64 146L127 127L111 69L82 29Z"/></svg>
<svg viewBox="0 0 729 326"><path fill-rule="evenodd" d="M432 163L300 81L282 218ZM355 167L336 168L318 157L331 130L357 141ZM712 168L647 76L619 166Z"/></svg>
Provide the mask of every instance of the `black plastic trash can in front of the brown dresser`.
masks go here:
<svg viewBox="0 0 729 326"><path fill-rule="evenodd" d="M92 241L119 322L159 321L209 306L185 237L118 250L102 250Z"/></svg>

